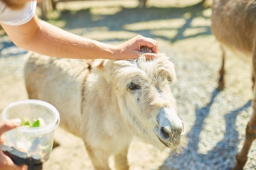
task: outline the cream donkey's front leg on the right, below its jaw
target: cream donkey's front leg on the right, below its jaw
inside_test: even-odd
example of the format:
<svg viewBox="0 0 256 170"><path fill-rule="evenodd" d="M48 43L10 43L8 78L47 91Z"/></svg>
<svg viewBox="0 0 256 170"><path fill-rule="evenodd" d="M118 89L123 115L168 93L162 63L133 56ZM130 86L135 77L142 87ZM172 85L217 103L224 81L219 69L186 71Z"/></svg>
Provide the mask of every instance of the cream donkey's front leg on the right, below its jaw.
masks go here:
<svg viewBox="0 0 256 170"><path fill-rule="evenodd" d="M117 170L129 170L127 154L128 154L128 147L125 148L119 154L115 155L115 168Z"/></svg>

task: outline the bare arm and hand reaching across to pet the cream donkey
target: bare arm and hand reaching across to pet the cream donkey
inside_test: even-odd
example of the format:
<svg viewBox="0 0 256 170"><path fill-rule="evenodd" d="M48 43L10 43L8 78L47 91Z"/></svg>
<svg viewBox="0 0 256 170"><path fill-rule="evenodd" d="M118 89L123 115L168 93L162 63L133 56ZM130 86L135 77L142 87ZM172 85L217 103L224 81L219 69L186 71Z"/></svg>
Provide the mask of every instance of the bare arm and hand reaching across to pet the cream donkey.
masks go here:
<svg viewBox="0 0 256 170"><path fill-rule="evenodd" d="M26 24L10 26L1 23L1 25L17 46L52 57L130 59L142 54L139 52L141 46L148 46L152 48L153 53L158 53L157 42L150 38L136 36L123 44L113 46L64 31L39 20L36 14ZM144 55L147 59L155 57L152 53Z"/></svg>

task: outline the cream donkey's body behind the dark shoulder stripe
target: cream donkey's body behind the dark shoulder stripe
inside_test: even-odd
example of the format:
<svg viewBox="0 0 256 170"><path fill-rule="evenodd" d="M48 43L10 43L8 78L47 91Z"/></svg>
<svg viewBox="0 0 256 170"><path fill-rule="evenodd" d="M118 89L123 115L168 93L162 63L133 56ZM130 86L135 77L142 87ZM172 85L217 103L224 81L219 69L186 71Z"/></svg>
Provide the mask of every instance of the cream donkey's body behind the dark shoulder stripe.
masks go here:
<svg viewBox="0 0 256 170"><path fill-rule="evenodd" d="M29 99L53 104L60 113L65 114L61 117L61 126L78 136L81 86L83 77L89 73L88 67L90 65L86 60L60 59L37 53L29 53L25 62L24 75Z"/></svg>

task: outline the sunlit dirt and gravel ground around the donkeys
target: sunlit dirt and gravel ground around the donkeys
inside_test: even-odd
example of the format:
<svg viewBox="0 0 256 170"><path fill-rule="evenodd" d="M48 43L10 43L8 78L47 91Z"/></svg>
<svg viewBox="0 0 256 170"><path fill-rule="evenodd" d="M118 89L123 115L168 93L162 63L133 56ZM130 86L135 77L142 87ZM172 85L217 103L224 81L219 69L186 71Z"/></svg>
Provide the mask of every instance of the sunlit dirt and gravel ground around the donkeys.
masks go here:
<svg viewBox="0 0 256 170"><path fill-rule="evenodd" d="M58 3L48 20L72 33L119 44L135 35L159 42L175 64L173 87L181 119L191 131L184 155L170 159L137 139L129 150L130 170L229 170L243 146L251 114L250 63L228 55L227 88L216 92L220 49L210 31L211 9L200 0L77 1ZM199 4L198 4L199 3ZM209 2L210 4L210 2ZM40 10L37 11L40 14ZM11 44L0 31L0 113L11 102L27 99L22 77L26 51ZM12 52L11 52L12 51ZM85 54L86 55L86 54ZM239 68L239 69L238 69ZM52 151L43 170L92 170L83 141L58 128L60 146ZM225 152L224 152L225 151ZM256 168L256 144L245 170ZM113 167L113 161L110 159ZM112 168L114 170L114 168Z"/></svg>

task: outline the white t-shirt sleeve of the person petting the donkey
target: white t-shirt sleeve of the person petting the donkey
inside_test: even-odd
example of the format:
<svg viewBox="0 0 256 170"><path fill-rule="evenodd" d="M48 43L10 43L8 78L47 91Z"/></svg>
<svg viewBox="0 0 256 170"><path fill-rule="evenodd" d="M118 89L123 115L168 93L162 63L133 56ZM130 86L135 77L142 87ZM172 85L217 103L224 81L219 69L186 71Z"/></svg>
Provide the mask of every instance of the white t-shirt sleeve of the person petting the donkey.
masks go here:
<svg viewBox="0 0 256 170"><path fill-rule="evenodd" d="M0 1L0 22L7 25L22 25L29 22L36 13L36 0L29 1L23 9L13 10Z"/></svg>

